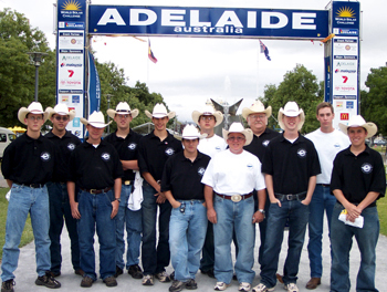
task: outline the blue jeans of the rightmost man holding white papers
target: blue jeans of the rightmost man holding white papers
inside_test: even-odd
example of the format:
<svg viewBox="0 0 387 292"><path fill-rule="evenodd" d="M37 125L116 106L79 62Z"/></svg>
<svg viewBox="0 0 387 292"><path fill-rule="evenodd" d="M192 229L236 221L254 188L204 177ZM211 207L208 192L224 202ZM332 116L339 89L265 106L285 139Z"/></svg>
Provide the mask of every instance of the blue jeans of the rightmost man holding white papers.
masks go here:
<svg viewBox="0 0 387 292"><path fill-rule="evenodd" d="M352 238L355 236L360 250L360 268L357 273L356 291L378 291L375 288L375 260L376 244L379 238L379 218L376 207L363 210L364 227L351 227L338 220L338 215L344 209L336 204L333 210L331 226L332 268L331 291L346 292L351 289L349 282L349 251Z"/></svg>

